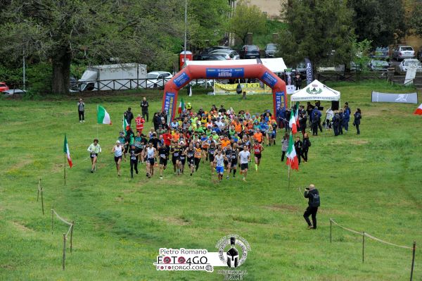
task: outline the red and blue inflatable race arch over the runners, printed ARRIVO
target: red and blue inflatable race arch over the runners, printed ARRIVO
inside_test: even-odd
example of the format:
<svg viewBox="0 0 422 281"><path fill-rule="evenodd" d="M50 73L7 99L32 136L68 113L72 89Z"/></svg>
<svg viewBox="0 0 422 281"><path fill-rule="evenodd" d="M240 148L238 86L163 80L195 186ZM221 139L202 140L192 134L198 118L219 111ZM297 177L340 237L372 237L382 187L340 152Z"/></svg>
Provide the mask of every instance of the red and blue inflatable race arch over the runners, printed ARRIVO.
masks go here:
<svg viewBox="0 0 422 281"><path fill-rule="evenodd" d="M273 114L277 108L286 108L286 83L277 75L271 72L263 64L252 65L187 65L177 75L172 77L164 87L162 96L162 111L171 113L173 120L177 109L177 94L179 89L195 79L238 79L238 78L258 78L263 83L271 87L273 92Z"/></svg>

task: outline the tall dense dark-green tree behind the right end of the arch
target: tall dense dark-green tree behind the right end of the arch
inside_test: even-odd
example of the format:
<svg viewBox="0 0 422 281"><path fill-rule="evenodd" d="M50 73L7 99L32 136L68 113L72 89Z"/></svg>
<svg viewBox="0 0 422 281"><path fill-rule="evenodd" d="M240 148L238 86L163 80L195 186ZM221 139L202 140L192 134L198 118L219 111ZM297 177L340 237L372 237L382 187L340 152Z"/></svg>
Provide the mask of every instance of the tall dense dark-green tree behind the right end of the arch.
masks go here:
<svg viewBox="0 0 422 281"><path fill-rule="evenodd" d="M343 0L285 4L288 29L280 32L279 53L295 65L309 58L314 65L348 64L352 58L352 10ZM316 69L316 68L314 68Z"/></svg>

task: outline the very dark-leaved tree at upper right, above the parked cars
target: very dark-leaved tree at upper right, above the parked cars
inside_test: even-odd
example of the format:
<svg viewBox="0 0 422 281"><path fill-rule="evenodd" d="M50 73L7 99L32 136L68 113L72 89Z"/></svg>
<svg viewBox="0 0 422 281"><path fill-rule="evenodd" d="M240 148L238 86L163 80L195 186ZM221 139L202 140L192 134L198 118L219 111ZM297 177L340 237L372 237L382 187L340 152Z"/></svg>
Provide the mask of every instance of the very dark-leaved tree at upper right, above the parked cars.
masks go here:
<svg viewBox="0 0 422 281"><path fill-rule="evenodd" d="M354 10L353 25L358 41L369 39L372 46L388 46L407 35L402 0L349 0Z"/></svg>

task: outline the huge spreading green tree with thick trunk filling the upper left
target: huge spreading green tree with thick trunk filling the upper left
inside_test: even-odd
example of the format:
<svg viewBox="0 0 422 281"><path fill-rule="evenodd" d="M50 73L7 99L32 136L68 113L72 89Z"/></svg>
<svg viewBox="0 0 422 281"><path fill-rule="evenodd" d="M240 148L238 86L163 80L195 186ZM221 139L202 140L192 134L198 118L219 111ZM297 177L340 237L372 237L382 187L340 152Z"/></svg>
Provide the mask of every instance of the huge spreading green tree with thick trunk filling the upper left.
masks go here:
<svg viewBox="0 0 422 281"><path fill-rule="evenodd" d="M169 65L181 41L177 0L2 1L2 57L37 56L51 61L53 93L67 94L70 63L119 58L120 63Z"/></svg>

